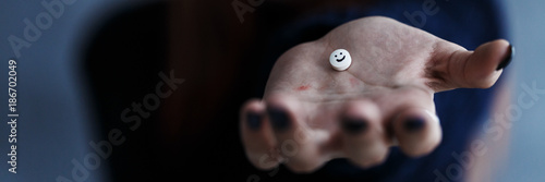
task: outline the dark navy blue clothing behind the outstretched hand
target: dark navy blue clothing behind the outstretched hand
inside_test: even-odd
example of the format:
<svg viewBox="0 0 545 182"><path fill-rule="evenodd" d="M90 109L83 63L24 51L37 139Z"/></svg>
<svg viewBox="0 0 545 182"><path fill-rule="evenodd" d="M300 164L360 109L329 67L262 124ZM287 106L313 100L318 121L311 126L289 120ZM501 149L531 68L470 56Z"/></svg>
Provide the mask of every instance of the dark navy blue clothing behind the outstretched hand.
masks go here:
<svg viewBox="0 0 545 182"><path fill-rule="evenodd" d="M306 15L276 29L269 27L269 23L275 21L264 21L263 29L275 31L270 33L267 52L263 54L267 62L261 72L256 96L263 94L268 73L281 53L298 44L317 39L342 23L371 15L388 16L473 50L486 41L505 38L498 12L492 1L386 0L366 9L353 7L346 11ZM278 19L277 15L266 10L262 14L265 20ZM481 126L487 120L497 85L489 89L455 89L435 94L444 138L431 155L413 159L392 147L388 159L371 169L360 169L347 159L335 159L313 174L293 174L281 168L274 175L261 177L261 181L461 181L463 169L468 167L465 157L471 154L467 146L475 132L483 131Z"/></svg>

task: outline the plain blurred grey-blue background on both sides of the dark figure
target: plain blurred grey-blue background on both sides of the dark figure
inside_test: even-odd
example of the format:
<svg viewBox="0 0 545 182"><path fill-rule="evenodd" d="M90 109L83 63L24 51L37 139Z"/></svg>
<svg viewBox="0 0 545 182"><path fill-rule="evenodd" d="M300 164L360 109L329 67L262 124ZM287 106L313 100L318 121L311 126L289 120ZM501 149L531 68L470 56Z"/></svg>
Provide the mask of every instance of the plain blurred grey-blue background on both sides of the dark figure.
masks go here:
<svg viewBox="0 0 545 182"><path fill-rule="evenodd" d="M3 1L0 5L0 75L8 77L8 60L15 58L8 41L10 35L23 37L24 19L34 19L46 10L41 0ZM88 87L80 72L78 52L95 31L95 26L113 12L146 1L77 0L64 7L64 13L53 19L49 29L21 50L17 61L17 174L8 172L9 125L0 123L1 181L55 181L59 175L71 179L72 159L82 161L92 151L90 141L99 138L92 122ZM517 48L511 73L513 100L525 83L545 88L545 1L502 1L507 10L504 22ZM0 78L2 112L8 113L7 78ZM529 109L522 110L513 123L509 157L498 167L493 181L545 181L545 95ZM3 118L3 117L2 117ZM7 119L5 119L7 120ZM2 120L3 122L4 120ZM106 162L105 162L106 163ZM88 181L108 181L108 166L90 171Z"/></svg>

